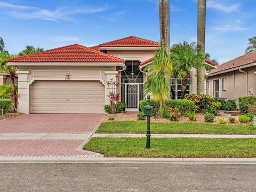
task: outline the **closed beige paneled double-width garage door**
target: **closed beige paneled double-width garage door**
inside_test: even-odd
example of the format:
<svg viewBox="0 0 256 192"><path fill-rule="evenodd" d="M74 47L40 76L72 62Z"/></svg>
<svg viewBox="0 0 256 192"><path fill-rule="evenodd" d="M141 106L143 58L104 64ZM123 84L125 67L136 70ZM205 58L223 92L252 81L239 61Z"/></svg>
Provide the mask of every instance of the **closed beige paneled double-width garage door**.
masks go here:
<svg viewBox="0 0 256 192"><path fill-rule="evenodd" d="M30 95L31 113L104 113L99 81L36 81Z"/></svg>

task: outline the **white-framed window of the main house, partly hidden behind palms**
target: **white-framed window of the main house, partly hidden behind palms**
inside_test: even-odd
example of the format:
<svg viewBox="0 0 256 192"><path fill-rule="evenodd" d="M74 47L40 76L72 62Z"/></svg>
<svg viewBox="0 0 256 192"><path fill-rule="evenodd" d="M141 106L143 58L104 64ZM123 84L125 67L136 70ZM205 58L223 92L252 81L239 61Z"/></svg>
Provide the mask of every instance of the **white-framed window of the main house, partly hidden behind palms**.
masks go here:
<svg viewBox="0 0 256 192"><path fill-rule="evenodd" d="M171 98L182 99L181 86L182 81L180 79L171 78ZM190 85L187 84L185 94L190 93Z"/></svg>

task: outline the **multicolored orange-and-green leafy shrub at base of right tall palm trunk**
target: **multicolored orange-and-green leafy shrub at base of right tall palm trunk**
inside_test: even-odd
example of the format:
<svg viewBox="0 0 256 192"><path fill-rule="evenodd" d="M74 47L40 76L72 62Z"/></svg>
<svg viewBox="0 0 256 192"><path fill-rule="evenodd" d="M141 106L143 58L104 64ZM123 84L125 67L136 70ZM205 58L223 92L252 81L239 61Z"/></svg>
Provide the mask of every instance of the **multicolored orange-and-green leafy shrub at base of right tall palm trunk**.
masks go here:
<svg viewBox="0 0 256 192"><path fill-rule="evenodd" d="M210 95L186 94L185 99L193 101L196 105L196 110L201 113L211 113L218 115L221 103L217 102Z"/></svg>

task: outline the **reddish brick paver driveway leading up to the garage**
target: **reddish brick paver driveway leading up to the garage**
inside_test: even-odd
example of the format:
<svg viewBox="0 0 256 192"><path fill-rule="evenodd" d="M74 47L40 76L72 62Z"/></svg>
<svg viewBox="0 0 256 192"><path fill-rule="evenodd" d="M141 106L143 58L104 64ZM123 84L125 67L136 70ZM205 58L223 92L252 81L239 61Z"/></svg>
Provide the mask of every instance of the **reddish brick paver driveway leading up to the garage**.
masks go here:
<svg viewBox="0 0 256 192"><path fill-rule="evenodd" d="M61 135L79 133L90 135L103 114L28 114L0 122L0 157L2 156L95 156L82 151L86 138L78 139L22 139L17 135L49 133ZM29 133L29 134L26 134ZM81 134L83 133L83 134ZM1 135L16 135L15 139L1 139ZM54 135L53 134L53 135ZM46 134L47 135L47 134ZM48 137L49 138L49 137ZM51 137L50 137L51 138Z"/></svg>

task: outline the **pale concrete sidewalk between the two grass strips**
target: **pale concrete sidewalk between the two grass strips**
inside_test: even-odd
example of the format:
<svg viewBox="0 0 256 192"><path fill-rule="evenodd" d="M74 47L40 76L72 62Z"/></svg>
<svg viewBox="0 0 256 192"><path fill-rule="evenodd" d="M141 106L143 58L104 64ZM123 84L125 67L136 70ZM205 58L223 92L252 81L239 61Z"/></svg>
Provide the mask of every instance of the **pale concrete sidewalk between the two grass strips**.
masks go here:
<svg viewBox="0 0 256 192"><path fill-rule="evenodd" d="M146 134L136 133L94 133L92 137L141 138ZM151 134L151 138L256 138L256 135L238 134Z"/></svg>

